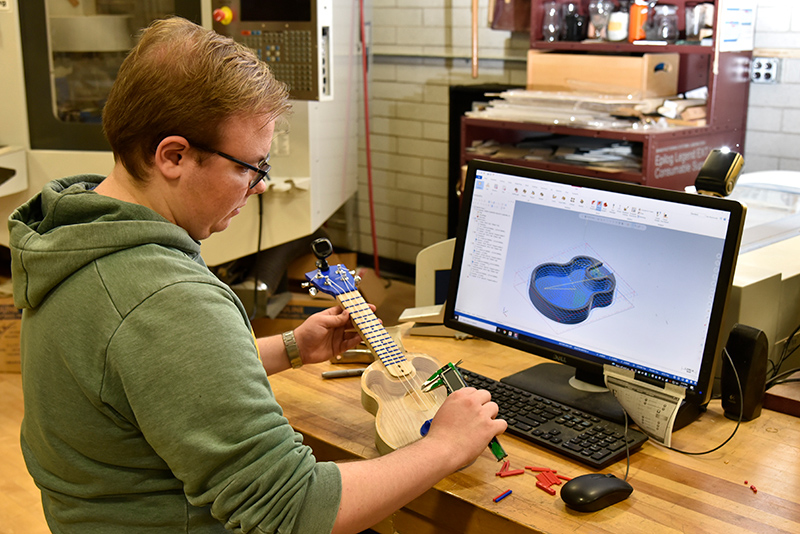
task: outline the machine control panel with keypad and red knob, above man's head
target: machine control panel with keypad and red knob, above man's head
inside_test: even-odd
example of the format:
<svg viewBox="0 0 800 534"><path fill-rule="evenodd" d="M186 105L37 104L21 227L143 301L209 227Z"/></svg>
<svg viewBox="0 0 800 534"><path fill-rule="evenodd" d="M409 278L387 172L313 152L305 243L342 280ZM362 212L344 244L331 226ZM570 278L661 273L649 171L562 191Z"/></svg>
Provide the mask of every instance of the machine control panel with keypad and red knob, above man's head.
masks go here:
<svg viewBox="0 0 800 534"><path fill-rule="evenodd" d="M331 0L213 0L213 28L252 49L296 100L331 100Z"/></svg>

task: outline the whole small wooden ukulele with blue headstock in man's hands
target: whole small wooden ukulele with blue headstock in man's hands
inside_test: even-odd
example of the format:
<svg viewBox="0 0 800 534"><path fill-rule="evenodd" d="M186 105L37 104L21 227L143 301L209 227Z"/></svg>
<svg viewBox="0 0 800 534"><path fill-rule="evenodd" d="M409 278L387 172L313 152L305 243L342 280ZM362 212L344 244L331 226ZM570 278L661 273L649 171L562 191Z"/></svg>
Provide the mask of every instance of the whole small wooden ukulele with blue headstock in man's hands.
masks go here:
<svg viewBox="0 0 800 534"><path fill-rule="evenodd" d="M406 358L405 351L355 289L351 275L343 265L323 263L318 270L306 273L306 279L315 290L336 297L350 312L353 326L377 358L361 376L361 404L375 415L375 445L385 454L420 439L423 423L433 418L447 393L445 388L422 391L425 380L441 364L424 354Z"/></svg>

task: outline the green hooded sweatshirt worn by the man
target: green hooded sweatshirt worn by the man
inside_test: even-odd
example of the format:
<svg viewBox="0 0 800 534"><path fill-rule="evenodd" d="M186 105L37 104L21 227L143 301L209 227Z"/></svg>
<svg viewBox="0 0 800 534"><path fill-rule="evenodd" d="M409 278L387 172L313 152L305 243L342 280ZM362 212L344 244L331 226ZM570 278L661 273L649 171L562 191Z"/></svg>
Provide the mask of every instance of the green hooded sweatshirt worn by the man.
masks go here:
<svg viewBox="0 0 800 534"><path fill-rule="evenodd" d="M241 302L102 179L51 182L9 219L21 445L51 530L329 532L339 470L283 417Z"/></svg>

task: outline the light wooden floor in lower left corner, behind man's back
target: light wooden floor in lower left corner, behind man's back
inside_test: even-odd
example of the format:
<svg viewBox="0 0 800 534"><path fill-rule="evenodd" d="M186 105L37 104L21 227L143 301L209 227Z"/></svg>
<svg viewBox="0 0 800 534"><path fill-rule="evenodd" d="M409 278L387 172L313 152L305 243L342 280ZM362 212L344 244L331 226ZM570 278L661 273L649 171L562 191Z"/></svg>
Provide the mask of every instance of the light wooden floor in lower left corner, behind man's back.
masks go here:
<svg viewBox="0 0 800 534"><path fill-rule="evenodd" d="M39 490L19 448L20 375L0 373L0 534L47 534Z"/></svg>

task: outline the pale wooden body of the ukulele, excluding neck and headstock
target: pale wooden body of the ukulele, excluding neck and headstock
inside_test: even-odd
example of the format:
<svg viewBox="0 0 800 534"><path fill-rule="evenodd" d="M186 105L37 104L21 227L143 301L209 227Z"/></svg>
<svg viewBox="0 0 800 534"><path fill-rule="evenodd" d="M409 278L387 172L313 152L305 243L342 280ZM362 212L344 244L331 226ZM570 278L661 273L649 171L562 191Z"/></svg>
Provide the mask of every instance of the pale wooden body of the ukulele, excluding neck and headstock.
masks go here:
<svg viewBox="0 0 800 534"><path fill-rule="evenodd" d="M375 445L386 454L420 439L425 421L436 415L447 398L444 388L422 393L422 382L439 370L439 362L425 354L407 354L414 368L408 378L393 377L381 361L361 375L361 405L375 416Z"/></svg>

